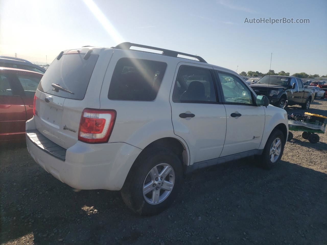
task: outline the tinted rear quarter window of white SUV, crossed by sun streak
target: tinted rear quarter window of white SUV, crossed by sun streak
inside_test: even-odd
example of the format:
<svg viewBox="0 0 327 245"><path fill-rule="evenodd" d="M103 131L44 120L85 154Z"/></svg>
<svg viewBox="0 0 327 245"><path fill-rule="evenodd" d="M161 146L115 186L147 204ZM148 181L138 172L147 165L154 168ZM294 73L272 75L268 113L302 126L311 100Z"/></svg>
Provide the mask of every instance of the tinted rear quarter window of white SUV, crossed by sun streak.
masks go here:
<svg viewBox="0 0 327 245"><path fill-rule="evenodd" d="M167 64L159 61L121 58L112 74L108 99L152 101L157 97Z"/></svg>

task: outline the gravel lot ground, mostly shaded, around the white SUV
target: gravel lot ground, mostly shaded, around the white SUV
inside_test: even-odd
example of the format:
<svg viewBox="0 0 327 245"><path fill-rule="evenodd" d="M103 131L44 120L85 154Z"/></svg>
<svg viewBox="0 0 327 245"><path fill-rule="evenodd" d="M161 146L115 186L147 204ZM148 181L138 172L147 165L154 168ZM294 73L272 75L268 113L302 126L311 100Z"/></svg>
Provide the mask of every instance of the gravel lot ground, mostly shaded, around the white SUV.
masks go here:
<svg viewBox="0 0 327 245"><path fill-rule="evenodd" d="M327 116L327 100L309 112ZM119 192L78 192L26 148L7 147L0 152L0 243L327 244L326 153L327 134L311 144L294 132L275 169L247 159L194 172L168 210L140 217Z"/></svg>

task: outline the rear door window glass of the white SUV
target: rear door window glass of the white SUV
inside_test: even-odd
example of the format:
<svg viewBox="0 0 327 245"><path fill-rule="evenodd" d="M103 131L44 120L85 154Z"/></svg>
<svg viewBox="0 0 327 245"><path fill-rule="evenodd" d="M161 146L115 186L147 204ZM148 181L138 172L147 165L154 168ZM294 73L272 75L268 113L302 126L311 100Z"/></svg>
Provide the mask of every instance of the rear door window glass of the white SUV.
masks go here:
<svg viewBox="0 0 327 245"><path fill-rule="evenodd" d="M181 66L174 86L173 102L217 102L214 80L210 70Z"/></svg>

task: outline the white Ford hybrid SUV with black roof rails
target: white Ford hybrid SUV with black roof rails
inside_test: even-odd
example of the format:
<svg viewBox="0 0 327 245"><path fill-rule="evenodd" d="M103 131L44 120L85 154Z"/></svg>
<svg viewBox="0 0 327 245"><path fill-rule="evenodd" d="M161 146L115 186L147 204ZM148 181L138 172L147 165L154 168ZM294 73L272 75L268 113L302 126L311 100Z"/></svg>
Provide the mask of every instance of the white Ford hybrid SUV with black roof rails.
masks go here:
<svg viewBox="0 0 327 245"><path fill-rule="evenodd" d="M276 165L288 135L286 111L235 72L129 42L61 52L35 95L34 160L73 188L121 190L142 215L171 204L193 170L252 155Z"/></svg>

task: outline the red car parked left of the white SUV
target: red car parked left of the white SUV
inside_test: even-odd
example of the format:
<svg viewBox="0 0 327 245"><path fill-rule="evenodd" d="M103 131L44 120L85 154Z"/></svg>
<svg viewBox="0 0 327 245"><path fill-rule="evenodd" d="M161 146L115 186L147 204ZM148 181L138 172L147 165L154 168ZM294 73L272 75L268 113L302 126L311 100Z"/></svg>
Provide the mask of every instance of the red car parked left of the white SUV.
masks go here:
<svg viewBox="0 0 327 245"><path fill-rule="evenodd" d="M25 139L25 122L33 117L34 94L42 76L0 67L0 142Z"/></svg>

